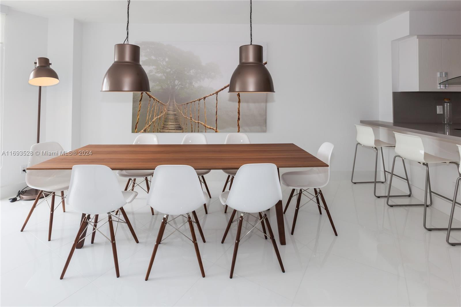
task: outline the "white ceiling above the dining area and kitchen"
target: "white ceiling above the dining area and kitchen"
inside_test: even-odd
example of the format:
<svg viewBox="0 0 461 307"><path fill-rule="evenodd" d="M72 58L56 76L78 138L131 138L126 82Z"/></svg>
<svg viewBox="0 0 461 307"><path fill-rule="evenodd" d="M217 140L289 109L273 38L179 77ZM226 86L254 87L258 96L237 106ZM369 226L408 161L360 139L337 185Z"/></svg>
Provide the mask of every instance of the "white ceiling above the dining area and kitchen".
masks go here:
<svg viewBox="0 0 461 307"><path fill-rule="evenodd" d="M19 1L2 5L44 17L87 23L126 22L126 1ZM249 1L132 0L130 23L246 24ZM376 25L406 11L461 11L461 0L254 0L255 24ZM461 14L461 12L460 12Z"/></svg>

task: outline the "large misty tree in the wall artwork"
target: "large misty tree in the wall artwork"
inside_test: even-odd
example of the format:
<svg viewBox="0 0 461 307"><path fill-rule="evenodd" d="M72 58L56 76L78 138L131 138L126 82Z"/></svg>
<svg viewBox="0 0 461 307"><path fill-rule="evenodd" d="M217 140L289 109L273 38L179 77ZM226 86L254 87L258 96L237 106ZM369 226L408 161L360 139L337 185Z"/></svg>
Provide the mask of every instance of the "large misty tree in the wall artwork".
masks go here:
<svg viewBox="0 0 461 307"><path fill-rule="evenodd" d="M165 94L167 100L179 97L196 97L204 90L197 85L220 76L215 63L202 63L199 56L190 51L160 42L140 42L141 65L146 69L151 89ZM165 101L166 102L166 101Z"/></svg>

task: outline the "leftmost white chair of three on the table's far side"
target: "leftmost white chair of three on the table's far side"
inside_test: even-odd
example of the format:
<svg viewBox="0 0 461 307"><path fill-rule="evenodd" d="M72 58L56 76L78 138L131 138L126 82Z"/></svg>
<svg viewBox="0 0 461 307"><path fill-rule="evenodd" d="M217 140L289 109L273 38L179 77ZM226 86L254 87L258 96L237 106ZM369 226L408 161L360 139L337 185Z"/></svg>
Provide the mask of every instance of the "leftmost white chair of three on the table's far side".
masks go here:
<svg viewBox="0 0 461 307"><path fill-rule="evenodd" d="M148 145L157 145L159 143L159 139L157 136L153 133L141 133L138 136L136 136L135 142L133 142L133 145L142 145L142 144L148 144ZM149 177L151 177L154 174L154 170L122 170L122 171L117 171L117 176L122 177L122 178L128 178L128 181L126 182L125 185L125 191L128 190L128 187L130 186L130 182L132 183L131 190L133 191L135 189L135 185L139 186L141 189L149 193ZM142 188L140 185L141 182L136 182L136 179L141 179L146 183L146 189ZM150 211L152 215L154 215L154 209L150 208Z"/></svg>

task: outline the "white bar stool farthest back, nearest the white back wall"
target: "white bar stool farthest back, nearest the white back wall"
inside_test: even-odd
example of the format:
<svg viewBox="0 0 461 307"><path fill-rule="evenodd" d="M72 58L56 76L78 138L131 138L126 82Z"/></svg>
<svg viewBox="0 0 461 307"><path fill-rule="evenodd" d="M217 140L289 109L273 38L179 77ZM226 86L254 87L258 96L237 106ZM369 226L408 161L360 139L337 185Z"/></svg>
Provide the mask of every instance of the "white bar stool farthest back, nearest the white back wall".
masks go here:
<svg viewBox="0 0 461 307"><path fill-rule="evenodd" d="M394 144L387 143L378 139L375 139L374 132L372 127L368 126L361 126L361 125L355 125L355 129L357 130L357 144L355 144L355 153L354 153L354 163L352 164L352 175L350 177L350 182L356 184L356 183L374 183L374 189L373 189L373 194L375 197L387 197L387 195L376 195L376 183L385 183L387 181L386 178L386 173L389 173L389 171L386 171L386 168L384 166L384 154L383 154L383 147L395 147ZM355 168L355 158L357 156L357 147L361 145L363 147L370 147L373 148L376 151L376 156L375 156L375 174L374 174L374 181L354 181L354 168ZM383 171L384 171L384 181L377 181L376 176L377 176L377 171L378 171L378 148L381 151L381 159L383 161ZM399 196L411 196L411 188L410 188L410 183L408 182L408 174L407 174L407 168L405 167L405 161L402 159L402 164L403 164L403 170L405 171L405 178L394 175L396 177L399 177L403 180L406 180L408 183L408 191L409 193L407 195L390 195L389 197L399 197Z"/></svg>

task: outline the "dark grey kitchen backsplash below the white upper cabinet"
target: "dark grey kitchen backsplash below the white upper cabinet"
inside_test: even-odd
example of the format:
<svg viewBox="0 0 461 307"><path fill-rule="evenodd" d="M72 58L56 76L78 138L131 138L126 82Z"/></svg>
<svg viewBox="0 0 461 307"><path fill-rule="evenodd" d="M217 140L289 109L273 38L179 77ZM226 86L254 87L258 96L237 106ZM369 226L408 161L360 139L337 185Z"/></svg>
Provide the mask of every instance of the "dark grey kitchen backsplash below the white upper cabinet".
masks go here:
<svg viewBox="0 0 461 307"><path fill-rule="evenodd" d="M437 106L449 98L453 107L453 123L461 123L461 92L393 92L394 123L442 123Z"/></svg>

